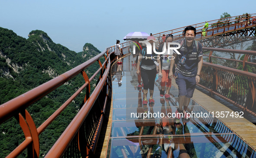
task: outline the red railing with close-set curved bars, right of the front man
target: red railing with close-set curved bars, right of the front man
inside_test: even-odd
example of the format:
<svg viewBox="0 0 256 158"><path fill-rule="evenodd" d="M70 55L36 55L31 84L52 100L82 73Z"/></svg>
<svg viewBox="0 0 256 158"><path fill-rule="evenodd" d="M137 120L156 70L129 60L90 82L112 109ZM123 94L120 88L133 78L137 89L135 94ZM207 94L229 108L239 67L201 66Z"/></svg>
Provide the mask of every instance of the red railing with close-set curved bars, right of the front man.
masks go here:
<svg viewBox="0 0 256 158"><path fill-rule="evenodd" d="M256 116L256 74L211 63L211 58L213 57L243 62L243 68L246 70L246 64L256 65L255 63L247 62L248 56L256 55L256 51L206 47L203 47L203 50L211 51L208 56L210 63L203 63L201 81L198 86L210 91L211 94L220 96L243 111ZM241 53L246 54L246 57L243 61L220 58L212 56L212 51Z"/></svg>

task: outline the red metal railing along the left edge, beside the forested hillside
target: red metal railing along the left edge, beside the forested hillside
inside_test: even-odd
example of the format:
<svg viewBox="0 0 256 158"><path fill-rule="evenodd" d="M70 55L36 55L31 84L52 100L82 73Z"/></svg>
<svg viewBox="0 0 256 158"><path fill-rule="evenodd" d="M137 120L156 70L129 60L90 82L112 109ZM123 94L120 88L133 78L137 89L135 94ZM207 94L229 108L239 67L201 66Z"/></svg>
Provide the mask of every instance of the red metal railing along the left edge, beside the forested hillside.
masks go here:
<svg viewBox="0 0 256 158"><path fill-rule="evenodd" d="M2 124L7 119L15 117L17 118L19 125L25 135L25 140L23 141L23 143L21 143L16 149L14 149L13 152L11 152L7 156L7 158L17 157L25 149L27 149L28 151L28 157L39 157L39 134L41 134L45 130L45 128L48 127L49 124L51 124L52 121L54 121L55 118L60 115L61 112L72 102L72 100L74 100L78 96L78 94L80 94L85 88L87 90L87 93L84 97L84 105L81 107L80 111L75 116L73 121L71 121L71 124L68 126L68 128L62 133L62 136L55 143L54 146L57 146L57 149L53 148L52 150L54 152L52 153L52 150L49 151L46 157L52 158L52 154L61 156L64 153L67 153L66 149L68 149L68 146L71 146L70 143L72 142L73 138L78 136L78 134L78 146L80 150L80 155L84 157L85 155L93 153L97 145L97 138L106 108L109 84L111 82L111 80L108 79L108 75L110 70L110 64L111 62L113 62L114 59L113 52L113 49L108 48L103 53L95 56L93 59L90 59L87 62L84 62L83 64L71 69L70 71L59 75L58 77L55 77L51 81L48 81L45 84L42 84L39 87L36 87L22 94L21 96L18 96L15 99L12 99L0 105L0 123ZM101 64L99 59L102 56L104 56L105 61ZM94 62L98 62L100 68L89 79L84 69L88 68ZM57 87L65 84L65 82L69 81L71 78L77 76L80 73L82 73L84 77L85 84L82 85L82 87L79 88L63 105L61 105L58 110L56 110L45 122L43 122L38 128L36 128L36 125L26 108L32 103L38 101L42 97L55 90ZM97 74L100 74L99 82L95 87L93 93L90 95L90 83ZM100 99L100 101L95 103L99 96L100 98L104 98L104 100ZM84 123L86 119L88 120L88 117L89 120L93 120L93 123ZM82 126L90 129L89 131L87 131L87 134L85 132L83 133L83 130L81 130L80 127ZM92 136L89 137L88 134ZM85 139L81 140L82 137L84 137ZM63 143L63 141L65 143ZM62 146L62 150L59 148L59 145ZM55 152L55 150L57 150L58 152ZM74 153L75 152L73 152L72 154Z"/></svg>

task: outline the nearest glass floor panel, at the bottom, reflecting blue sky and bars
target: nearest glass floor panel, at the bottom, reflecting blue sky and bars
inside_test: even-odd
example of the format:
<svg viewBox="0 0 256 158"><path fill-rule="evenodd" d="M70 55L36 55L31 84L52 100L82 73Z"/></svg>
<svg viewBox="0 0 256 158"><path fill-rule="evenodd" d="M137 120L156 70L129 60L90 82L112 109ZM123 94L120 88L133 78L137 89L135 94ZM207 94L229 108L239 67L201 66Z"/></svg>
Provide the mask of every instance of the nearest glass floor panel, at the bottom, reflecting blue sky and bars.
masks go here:
<svg viewBox="0 0 256 158"><path fill-rule="evenodd" d="M109 158L255 158L235 134L111 138Z"/></svg>

